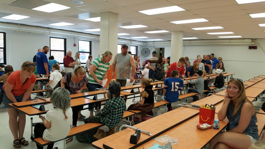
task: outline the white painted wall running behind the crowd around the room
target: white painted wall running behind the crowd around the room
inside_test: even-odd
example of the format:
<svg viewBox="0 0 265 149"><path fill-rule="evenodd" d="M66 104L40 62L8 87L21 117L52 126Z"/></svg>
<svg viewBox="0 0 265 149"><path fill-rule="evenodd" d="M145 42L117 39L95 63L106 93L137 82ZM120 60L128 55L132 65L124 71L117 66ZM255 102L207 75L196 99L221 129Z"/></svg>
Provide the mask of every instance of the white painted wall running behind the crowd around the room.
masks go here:
<svg viewBox="0 0 265 149"><path fill-rule="evenodd" d="M59 36L52 36L59 37ZM78 52L78 39L72 37L60 37L67 39L67 50L72 50L72 53ZM50 45L50 36L45 34L32 34L22 32L6 32L6 62L14 67L14 70L21 68L21 64L25 61L32 61L34 55L37 53L39 48L45 45ZM84 40L84 39L81 39ZM97 40L92 41L92 56L93 58L98 57L100 42ZM265 39L257 39L260 46L265 49ZM77 46L74 47L73 44ZM122 44L122 43L121 43ZM131 44L134 45L135 44ZM128 44L130 47L130 44ZM258 45L258 49L248 49L248 44L203 44L203 45L183 45L183 57L188 56L190 61L193 62L197 55L203 56L203 54L214 53L215 57L222 57L226 72L235 73L233 77L248 80L249 78L258 76L260 74L265 75L264 64L265 54L261 47ZM143 48L150 49L150 55L143 57L141 50ZM165 57L170 55L170 45L155 45L155 46L138 46L138 55L140 56L140 63L145 59L151 57L154 48L165 48ZM129 49L130 51L130 49ZM114 53L113 55L116 55ZM49 56L49 53L47 54ZM173 63L173 62L171 62Z"/></svg>

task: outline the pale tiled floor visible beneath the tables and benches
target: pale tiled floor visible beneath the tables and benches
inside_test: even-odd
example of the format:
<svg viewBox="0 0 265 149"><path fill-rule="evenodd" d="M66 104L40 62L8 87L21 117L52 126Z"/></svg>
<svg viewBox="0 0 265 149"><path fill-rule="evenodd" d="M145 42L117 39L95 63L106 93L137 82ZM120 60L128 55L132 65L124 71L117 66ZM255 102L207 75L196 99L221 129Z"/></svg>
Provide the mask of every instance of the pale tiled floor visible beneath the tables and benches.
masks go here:
<svg viewBox="0 0 265 149"><path fill-rule="evenodd" d="M203 97L206 97L206 95L203 95ZM136 98L136 100L139 100L139 97ZM183 100L183 102L188 102L188 103L191 103L193 102L192 101L192 98L188 98L187 101L186 100ZM181 102L178 101L178 102L175 102L175 103L172 103L172 106L175 106L177 104L180 104ZM253 102L253 104L255 106L259 106L261 107L263 102L261 101L255 101ZM127 100L127 103L126 103L126 106L130 106L132 104L132 99L128 99ZM89 115L89 112L88 110L83 110L82 111L82 115L85 115L85 116L88 116ZM28 146L21 146L21 148L36 148L36 144L34 143L34 141L30 140L30 134L31 134L31 127L30 127L30 117L33 117L33 122L41 122L41 119L39 119L38 116L27 116L26 117L26 127L25 127L25 132L24 132L24 137L26 138L26 140L29 140L29 145ZM13 136L10 132L10 129L9 129L9 124L8 124L8 114L6 112L6 109L4 108L4 105L1 104L0 105L0 149L14 149L13 147ZM78 121L77 122L77 125L82 125L84 122L80 122ZM120 123L120 125L122 125L124 123ZM105 130L108 130L108 128L106 126L102 127L101 129L105 129ZM119 127L117 127L117 131ZM58 147L59 149L62 149L64 148L64 144L63 144L63 141L59 141L57 143L54 144L54 147ZM44 147L46 148L46 147ZM74 137L73 138L73 141L71 143L69 143L67 145L67 148L68 149L74 149L74 148L78 148L78 149L85 149L85 148L93 148L92 145L90 143L79 143L77 142L76 138Z"/></svg>

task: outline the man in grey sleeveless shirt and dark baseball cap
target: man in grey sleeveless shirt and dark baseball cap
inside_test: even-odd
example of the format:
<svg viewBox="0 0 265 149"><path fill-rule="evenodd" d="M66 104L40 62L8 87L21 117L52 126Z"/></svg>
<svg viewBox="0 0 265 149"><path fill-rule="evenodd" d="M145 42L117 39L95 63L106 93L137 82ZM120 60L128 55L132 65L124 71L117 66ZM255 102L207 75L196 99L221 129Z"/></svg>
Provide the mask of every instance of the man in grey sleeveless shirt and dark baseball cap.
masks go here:
<svg viewBox="0 0 265 149"><path fill-rule="evenodd" d="M112 63L112 77L115 77L115 66L117 65L117 77L116 81L120 83L122 87L126 85L126 79L130 79L130 82L134 81L135 64L134 59L128 53L128 46L123 44L121 47L121 53L118 53Z"/></svg>

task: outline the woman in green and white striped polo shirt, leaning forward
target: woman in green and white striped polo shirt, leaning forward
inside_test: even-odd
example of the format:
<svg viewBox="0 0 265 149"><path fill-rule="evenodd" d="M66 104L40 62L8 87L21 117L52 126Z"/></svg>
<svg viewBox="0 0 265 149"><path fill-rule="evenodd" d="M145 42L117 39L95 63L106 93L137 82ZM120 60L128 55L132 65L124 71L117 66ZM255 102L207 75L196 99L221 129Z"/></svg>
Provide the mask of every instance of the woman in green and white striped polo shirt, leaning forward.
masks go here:
<svg viewBox="0 0 265 149"><path fill-rule="evenodd" d="M88 74L88 83L87 88L89 92L95 91L96 88L102 88L102 80L107 78L108 70L110 69L110 60L112 58L112 53L106 51L101 57L97 57L90 69ZM88 110L90 111L90 116L93 114L93 106L96 105L97 112L100 110L100 102L97 102L93 105L88 105Z"/></svg>

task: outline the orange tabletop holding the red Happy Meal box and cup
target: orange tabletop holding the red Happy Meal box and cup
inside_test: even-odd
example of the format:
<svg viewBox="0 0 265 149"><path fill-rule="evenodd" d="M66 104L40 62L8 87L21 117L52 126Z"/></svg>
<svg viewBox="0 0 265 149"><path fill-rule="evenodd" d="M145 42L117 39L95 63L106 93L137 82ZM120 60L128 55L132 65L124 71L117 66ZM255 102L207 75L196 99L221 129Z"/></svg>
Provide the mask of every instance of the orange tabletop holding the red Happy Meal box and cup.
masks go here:
<svg viewBox="0 0 265 149"><path fill-rule="evenodd" d="M215 114L217 118L217 114ZM172 138L178 138L178 144L172 145L173 149L177 148L203 148L210 140L212 140L218 133L220 133L229 123L228 119L220 120L219 129L199 130L196 124L199 123L199 115L190 120L176 126L175 128L159 135L168 135ZM142 136L142 134L141 134ZM152 147L155 143L162 144L156 140L150 140L147 143L140 145L137 149Z"/></svg>

